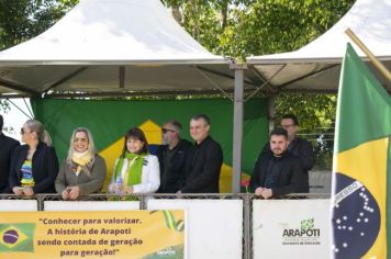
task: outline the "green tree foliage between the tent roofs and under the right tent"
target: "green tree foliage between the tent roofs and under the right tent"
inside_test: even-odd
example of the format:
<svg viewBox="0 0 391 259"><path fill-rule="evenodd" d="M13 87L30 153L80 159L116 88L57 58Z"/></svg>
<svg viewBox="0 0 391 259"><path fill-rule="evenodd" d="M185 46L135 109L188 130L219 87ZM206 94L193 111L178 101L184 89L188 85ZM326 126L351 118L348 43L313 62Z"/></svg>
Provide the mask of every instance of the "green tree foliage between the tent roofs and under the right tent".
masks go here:
<svg viewBox="0 0 391 259"><path fill-rule="evenodd" d="M355 0L166 0L179 22L212 53L245 60L250 55L295 50L333 26ZM329 126L336 97L279 94L276 119L295 113L302 127ZM278 120L279 121L279 120Z"/></svg>

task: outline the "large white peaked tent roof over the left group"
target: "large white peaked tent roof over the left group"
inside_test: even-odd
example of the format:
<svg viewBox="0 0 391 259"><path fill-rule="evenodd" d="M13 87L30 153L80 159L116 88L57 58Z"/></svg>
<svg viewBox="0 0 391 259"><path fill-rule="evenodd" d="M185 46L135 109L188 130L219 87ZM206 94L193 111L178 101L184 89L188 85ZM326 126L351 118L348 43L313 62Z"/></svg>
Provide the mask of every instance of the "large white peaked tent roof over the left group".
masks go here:
<svg viewBox="0 0 391 259"><path fill-rule="evenodd" d="M159 0L81 0L46 32L0 52L0 93L232 90L231 64Z"/></svg>

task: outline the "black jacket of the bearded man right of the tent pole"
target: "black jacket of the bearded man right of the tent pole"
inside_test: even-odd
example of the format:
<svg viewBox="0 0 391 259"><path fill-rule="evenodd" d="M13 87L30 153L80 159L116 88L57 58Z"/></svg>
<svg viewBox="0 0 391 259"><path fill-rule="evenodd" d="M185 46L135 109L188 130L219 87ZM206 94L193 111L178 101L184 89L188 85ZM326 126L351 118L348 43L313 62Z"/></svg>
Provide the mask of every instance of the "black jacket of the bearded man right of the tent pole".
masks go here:
<svg viewBox="0 0 391 259"><path fill-rule="evenodd" d="M271 151L262 151L255 164L250 187L253 191L258 187L269 188L272 196L297 193L303 176L300 159L289 151L281 157L275 157ZM267 177L273 178L273 185L267 183Z"/></svg>

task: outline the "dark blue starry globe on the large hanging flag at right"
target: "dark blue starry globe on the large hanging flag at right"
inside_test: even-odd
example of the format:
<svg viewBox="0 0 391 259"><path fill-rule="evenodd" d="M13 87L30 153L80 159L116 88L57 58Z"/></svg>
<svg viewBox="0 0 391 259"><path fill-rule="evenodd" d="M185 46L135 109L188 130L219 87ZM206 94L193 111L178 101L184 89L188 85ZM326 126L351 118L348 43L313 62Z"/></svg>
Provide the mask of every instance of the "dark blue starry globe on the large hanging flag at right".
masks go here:
<svg viewBox="0 0 391 259"><path fill-rule="evenodd" d="M361 258L373 245L380 229L380 210L372 194L356 179L337 172L332 227L334 258ZM359 188L350 188L357 187ZM339 194L339 195L338 195Z"/></svg>

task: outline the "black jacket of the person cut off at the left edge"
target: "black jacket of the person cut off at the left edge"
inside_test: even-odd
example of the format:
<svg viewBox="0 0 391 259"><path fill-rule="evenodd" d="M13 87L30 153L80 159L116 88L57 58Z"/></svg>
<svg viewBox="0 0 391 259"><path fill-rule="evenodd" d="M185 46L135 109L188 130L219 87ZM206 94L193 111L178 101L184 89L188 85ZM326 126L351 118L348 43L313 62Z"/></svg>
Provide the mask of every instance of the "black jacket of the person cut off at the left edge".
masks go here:
<svg viewBox="0 0 391 259"><path fill-rule="evenodd" d="M0 133L0 193L9 192L7 187L10 177L11 158L14 148L19 145L18 140Z"/></svg>

